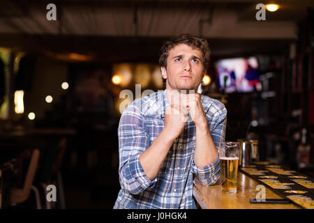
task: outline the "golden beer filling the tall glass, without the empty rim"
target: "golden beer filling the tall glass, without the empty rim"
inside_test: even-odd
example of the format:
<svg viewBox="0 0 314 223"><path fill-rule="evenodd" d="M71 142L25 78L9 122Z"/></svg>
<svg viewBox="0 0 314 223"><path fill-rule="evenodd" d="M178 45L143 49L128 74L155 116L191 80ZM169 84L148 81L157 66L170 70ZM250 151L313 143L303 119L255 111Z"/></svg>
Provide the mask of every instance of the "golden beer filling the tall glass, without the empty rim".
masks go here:
<svg viewBox="0 0 314 223"><path fill-rule="evenodd" d="M237 193L239 157L220 157L221 186L223 193Z"/></svg>

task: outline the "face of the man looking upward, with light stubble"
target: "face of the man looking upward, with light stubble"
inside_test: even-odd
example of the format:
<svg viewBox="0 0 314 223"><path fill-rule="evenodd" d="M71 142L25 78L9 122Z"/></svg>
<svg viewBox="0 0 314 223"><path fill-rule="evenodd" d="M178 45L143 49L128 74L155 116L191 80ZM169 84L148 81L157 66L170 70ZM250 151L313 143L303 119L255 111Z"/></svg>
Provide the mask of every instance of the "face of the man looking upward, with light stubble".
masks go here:
<svg viewBox="0 0 314 223"><path fill-rule="evenodd" d="M167 57L167 69L161 68L161 74L166 80L166 89L195 90L204 77L202 52L186 44L179 44L172 49Z"/></svg>

